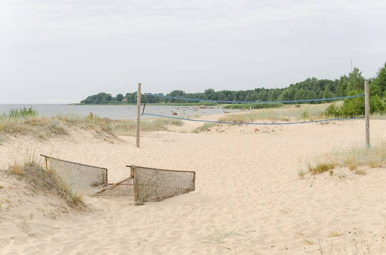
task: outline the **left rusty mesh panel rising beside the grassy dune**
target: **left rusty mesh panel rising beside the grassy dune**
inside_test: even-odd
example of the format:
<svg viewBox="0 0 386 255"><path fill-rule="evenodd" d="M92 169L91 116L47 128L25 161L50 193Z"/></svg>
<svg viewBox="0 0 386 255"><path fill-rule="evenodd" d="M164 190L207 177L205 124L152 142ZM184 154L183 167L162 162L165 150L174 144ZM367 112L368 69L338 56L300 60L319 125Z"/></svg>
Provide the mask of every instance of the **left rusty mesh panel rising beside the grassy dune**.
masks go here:
<svg viewBox="0 0 386 255"><path fill-rule="evenodd" d="M107 169L41 155L64 183L78 194L90 195L108 185Z"/></svg>

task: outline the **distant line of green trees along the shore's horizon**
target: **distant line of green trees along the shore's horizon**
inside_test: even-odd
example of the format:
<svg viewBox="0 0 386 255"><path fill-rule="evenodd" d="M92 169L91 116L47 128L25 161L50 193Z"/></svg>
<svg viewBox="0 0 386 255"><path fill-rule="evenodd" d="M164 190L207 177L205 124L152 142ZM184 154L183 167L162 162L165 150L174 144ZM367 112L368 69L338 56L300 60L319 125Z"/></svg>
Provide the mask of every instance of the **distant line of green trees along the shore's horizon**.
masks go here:
<svg viewBox="0 0 386 255"><path fill-rule="evenodd" d="M215 91L207 89L203 93L185 93L182 90L174 90L166 96L186 97L208 100L226 101L282 101L282 100L303 100L315 98L330 98L351 95L353 92L363 93L364 78L358 68L336 80L319 80L308 78L305 81L291 84L285 88L256 88L253 90ZM381 67L376 76L369 79L370 96L377 96L384 101L386 93L386 63ZM156 93L153 93L156 94ZM159 94L163 95L163 94ZM125 99L125 100L124 100ZM187 103L185 100L167 99L162 97L147 96L149 103ZM117 104L137 103L137 92L118 94L113 97L111 94L99 93L82 100L82 104Z"/></svg>

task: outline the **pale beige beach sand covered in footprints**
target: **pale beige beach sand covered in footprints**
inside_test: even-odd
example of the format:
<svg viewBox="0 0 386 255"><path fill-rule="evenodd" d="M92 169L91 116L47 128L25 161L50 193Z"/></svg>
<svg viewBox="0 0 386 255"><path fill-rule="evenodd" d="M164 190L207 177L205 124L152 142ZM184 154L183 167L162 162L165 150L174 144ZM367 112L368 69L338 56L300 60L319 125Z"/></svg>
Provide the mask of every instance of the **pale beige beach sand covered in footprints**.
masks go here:
<svg viewBox="0 0 386 255"><path fill-rule="evenodd" d="M385 138L385 124L371 120L372 140ZM84 130L48 141L9 138L0 145L0 169L34 151L107 167L111 181L128 176L130 164L192 170L196 191L143 206L131 197L85 197L88 209L76 212L2 172L0 197L8 202L0 209L0 253L386 252L384 168L298 177L315 155L363 142L363 120L182 132L194 125L201 124L142 133L139 149L135 137L106 141ZM342 235L329 237L333 231Z"/></svg>

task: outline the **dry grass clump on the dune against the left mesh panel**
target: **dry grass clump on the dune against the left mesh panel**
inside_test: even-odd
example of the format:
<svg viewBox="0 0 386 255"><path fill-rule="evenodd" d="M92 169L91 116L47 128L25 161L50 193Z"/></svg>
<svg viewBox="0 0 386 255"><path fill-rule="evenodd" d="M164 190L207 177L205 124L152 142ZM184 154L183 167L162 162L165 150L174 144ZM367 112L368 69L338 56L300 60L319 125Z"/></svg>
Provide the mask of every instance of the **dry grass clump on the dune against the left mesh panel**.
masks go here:
<svg viewBox="0 0 386 255"><path fill-rule="evenodd" d="M31 158L22 164L15 161L14 164L8 168L7 173L23 178L36 189L55 192L71 207L76 209L83 209L85 207L81 195L74 193L55 173L54 169L45 169L35 158Z"/></svg>

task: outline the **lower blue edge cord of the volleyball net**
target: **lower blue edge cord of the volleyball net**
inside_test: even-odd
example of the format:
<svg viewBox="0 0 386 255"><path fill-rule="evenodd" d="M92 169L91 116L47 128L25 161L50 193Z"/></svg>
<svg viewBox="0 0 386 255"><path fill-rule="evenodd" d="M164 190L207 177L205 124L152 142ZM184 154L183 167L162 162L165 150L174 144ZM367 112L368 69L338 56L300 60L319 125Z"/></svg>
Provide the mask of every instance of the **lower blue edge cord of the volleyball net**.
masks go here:
<svg viewBox="0 0 386 255"><path fill-rule="evenodd" d="M215 121L215 120L192 120L192 119L178 118L178 117L152 114L152 113L143 113L142 115L150 115L150 116L155 116L155 117L171 118L171 119L177 119L177 120L210 122L210 123L219 123L219 124L233 124L233 125L291 125L291 124L306 124L306 123L314 123L314 122L327 122L327 121L334 121L334 120L364 119L364 117L350 117L350 118L335 118L335 119L297 121L297 122L258 123L258 122L228 122L228 121Z"/></svg>

